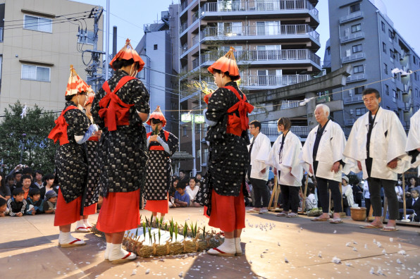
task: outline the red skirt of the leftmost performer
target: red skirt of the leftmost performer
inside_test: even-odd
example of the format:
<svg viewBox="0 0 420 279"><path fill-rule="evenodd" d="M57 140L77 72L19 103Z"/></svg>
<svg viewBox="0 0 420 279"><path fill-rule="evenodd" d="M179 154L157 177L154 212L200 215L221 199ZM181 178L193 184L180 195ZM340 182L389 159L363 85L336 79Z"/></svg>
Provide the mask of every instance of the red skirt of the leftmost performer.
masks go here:
<svg viewBox="0 0 420 279"><path fill-rule="evenodd" d="M82 196L66 203L61 189L58 189L56 216L54 216L54 225L69 225L80 221L80 209L82 206Z"/></svg>

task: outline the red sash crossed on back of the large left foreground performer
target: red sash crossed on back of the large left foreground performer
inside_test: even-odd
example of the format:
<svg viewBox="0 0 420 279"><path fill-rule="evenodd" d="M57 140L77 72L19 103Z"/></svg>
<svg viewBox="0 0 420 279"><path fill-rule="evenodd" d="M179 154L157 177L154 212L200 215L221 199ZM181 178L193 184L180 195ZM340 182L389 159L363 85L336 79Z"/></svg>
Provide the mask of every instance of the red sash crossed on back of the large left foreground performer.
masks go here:
<svg viewBox="0 0 420 279"><path fill-rule="evenodd" d="M135 77L130 77L130 75L121 78L115 89L113 89L113 92L109 88L108 81L102 85L102 89L105 90L106 95L99 101L99 107L101 108L99 109L99 116L104 119L105 126L108 127L109 131L117 130L117 126L130 124L128 117L130 116L130 107L134 106L134 104L125 104L116 95L116 92L125 83L134 79Z"/></svg>

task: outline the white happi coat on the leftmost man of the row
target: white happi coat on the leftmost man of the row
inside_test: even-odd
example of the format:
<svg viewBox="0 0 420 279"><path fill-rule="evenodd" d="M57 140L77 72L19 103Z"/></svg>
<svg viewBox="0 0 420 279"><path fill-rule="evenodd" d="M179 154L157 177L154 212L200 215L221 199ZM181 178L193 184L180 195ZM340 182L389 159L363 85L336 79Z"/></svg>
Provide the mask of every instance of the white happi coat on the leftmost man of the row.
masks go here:
<svg viewBox="0 0 420 279"><path fill-rule="evenodd" d="M250 140L252 142L254 138ZM251 144L248 145L248 150L251 147ZM251 168L251 178L268 180L268 166L265 163L268 153L271 149L270 139L262 132L259 132L255 138L254 145L252 145L251 151L251 161L249 162L252 165ZM265 173L261 173L263 169L266 169Z"/></svg>

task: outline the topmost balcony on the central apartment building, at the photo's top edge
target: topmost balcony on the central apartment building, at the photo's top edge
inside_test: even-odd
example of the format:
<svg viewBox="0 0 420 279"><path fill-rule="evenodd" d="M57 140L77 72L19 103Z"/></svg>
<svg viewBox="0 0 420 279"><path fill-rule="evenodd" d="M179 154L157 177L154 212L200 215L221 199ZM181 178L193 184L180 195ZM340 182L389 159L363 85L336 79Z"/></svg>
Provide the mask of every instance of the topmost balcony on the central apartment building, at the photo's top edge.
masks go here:
<svg viewBox="0 0 420 279"><path fill-rule="evenodd" d="M319 12L308 0L268 0L268 1L220 1L218 3L206 3L202 12L225 13L225 12L258 12L258 11L299 11L309 10L316 20L319 20Z"/></svg>

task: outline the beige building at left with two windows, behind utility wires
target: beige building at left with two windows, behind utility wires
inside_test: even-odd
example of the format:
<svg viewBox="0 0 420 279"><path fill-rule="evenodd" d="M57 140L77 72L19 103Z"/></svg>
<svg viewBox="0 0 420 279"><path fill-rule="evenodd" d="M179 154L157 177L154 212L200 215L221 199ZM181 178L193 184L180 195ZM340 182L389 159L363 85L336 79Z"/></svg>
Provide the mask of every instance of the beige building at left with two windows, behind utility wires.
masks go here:
<svg viewBox="0 0 420 279"><path fill-rule="evenodd" d="M91 54L85 53L83 61L81 51L93 47L92 8L69 0L0 0L0 115L18 100L63 109L70 65L87 77ZM77 37L78 27L86 36ZM102 18L98 27L104 29ZM97 36L102 50L102 32Z"/></svg>

